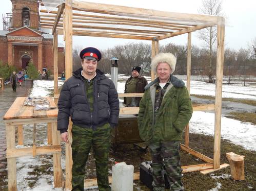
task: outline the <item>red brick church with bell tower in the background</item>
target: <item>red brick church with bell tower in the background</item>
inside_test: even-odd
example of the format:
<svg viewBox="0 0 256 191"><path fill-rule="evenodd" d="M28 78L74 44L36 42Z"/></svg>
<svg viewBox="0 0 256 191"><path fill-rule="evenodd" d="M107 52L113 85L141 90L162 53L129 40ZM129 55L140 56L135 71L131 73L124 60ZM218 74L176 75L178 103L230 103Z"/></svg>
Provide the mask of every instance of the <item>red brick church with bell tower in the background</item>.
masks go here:
<svg viewBox="0 0 256 191"><path fill-rule="evenodd" d="M53 72L53 35L40 29L37 0L11 0L12 14L3 18L0 30L0 61L26 68L32 62L37 69ZM58 73L65 70L64 47L58 47Z"/></svg>

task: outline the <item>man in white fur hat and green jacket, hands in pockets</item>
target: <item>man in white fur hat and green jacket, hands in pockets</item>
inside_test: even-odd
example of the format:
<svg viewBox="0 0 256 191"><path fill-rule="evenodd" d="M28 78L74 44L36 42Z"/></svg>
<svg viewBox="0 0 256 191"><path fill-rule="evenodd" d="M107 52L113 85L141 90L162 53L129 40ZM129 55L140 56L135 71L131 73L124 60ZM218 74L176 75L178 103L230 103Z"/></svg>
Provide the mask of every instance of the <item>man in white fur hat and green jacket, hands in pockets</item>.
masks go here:
<svg viewBox="0 0 256 191"><path fill-rule="evenodd" d="M165 189L163 159L170 190L184 190L180 142L192 115L192 104L185 83L171 75L175 64L171 53L160 53L152 59L152 70L158 77L145 87L140 102L138 126L141 138L149 143L154 191Z"/></svg>

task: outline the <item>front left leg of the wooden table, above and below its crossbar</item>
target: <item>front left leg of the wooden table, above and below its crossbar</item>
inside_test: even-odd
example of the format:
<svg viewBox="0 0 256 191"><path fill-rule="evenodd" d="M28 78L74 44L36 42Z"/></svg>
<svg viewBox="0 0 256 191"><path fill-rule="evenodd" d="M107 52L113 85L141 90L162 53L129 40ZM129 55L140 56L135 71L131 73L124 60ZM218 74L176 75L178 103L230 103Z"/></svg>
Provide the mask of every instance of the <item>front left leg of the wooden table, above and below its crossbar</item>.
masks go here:
<svg viewBox="0 0 256 191"><path fill-rule="evenodd" d="M15 126L6 124L6 147L8 150L15 149ZM7 158L8 190L17 190L16 158Z"/></svg>

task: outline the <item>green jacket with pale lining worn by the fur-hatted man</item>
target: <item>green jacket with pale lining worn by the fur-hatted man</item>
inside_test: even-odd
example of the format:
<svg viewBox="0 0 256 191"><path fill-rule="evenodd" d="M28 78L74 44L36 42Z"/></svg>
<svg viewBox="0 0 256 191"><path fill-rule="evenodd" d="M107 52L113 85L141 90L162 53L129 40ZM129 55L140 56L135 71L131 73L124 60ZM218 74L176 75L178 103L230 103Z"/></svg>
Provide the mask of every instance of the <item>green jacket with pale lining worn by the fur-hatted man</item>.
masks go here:
<svg viewBox="0 0 256 191"><path fill-rule="evenodd" d="M144 141L173 141L182 139L182 131L192 116L192 103L185 83L170 76L170 84L164 94L157 114L154 114L157 79L145 87L140 102L138 126Z"/></svg>

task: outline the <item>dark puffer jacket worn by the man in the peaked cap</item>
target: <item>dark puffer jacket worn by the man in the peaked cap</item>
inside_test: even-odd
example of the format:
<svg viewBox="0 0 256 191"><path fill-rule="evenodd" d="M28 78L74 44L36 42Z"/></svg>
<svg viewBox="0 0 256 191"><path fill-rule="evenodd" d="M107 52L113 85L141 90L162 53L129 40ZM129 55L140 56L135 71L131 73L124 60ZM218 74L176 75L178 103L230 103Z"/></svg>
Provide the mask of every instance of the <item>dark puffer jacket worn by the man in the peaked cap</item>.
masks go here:
<svg viewBox="0 0 256 191"><path fill-rule="evenodd" d="M93 83L94 104L91 113L81 71L82 68L77 69L63 84L58 99L57 129L61 133L68 129L69 116L74 125L94 130L106 123L112 127L118 123L119 99L114 83L101 70L96 70L97 75Z"/></svg>

